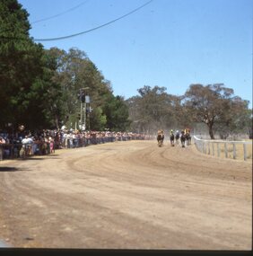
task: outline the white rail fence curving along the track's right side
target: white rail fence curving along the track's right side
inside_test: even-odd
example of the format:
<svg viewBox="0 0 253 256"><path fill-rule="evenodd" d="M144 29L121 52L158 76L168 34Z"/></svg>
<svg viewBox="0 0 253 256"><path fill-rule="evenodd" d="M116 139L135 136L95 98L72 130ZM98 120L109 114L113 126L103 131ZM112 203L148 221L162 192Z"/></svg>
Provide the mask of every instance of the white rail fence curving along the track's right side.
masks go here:
<svg viewBox="0 0 253 256"><path fill-rule="evenodd" d="M252 159L252 141L208 140L194 136L196 149L204 154L232 159Z"/></svg>

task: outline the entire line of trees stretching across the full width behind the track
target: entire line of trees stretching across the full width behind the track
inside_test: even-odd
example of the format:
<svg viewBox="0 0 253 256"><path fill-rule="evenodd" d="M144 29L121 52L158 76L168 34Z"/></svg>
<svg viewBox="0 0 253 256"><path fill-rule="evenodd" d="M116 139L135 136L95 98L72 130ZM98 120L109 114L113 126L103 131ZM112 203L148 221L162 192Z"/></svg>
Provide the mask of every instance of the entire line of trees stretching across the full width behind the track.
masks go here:
<svg viewBox="0 0 253 256"><path fill-rule="evenodd" d="M191 84L184 95L144 85L129 99L80 49L44 49L30 37L29 13L17 0L0 2L0 129L60 128L78 123L80 89L91 97L93 130L153 133L204 123L211 138L252 132L249 102L224 84Z"/></svg>

